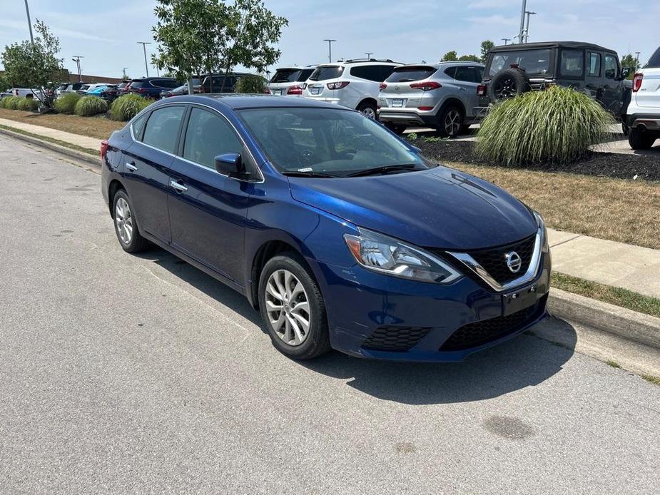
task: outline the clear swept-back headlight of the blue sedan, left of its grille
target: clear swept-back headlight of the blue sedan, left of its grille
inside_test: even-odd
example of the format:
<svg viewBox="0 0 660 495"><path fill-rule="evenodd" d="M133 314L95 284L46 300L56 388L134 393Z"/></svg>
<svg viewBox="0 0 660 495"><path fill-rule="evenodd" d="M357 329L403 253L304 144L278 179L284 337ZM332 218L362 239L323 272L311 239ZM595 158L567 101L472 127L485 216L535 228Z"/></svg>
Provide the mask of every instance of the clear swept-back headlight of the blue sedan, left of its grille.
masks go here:
<svg viewBox="0 0 660 495"><path fill-rule="evenodd" d="M449 284L461 277L430 252L370 230L359 232L344 234L344 239L355 260L368 270L437 284Z"/></svg>

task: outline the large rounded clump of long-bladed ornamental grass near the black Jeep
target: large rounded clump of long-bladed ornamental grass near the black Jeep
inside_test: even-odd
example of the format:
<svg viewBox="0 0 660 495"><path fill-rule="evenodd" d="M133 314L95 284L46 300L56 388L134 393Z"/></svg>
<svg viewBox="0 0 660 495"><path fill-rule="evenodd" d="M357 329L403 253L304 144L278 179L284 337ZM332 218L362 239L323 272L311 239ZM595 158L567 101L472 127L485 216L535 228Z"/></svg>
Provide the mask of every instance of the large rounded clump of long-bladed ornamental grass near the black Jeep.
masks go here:
<svg viewBox="0 0 660 495"><path fill-rule="evenodd" d="M598 102L553 86L495 103L477 133L477 156L504 165L571 163L609 137L614 118Z"/></svg>

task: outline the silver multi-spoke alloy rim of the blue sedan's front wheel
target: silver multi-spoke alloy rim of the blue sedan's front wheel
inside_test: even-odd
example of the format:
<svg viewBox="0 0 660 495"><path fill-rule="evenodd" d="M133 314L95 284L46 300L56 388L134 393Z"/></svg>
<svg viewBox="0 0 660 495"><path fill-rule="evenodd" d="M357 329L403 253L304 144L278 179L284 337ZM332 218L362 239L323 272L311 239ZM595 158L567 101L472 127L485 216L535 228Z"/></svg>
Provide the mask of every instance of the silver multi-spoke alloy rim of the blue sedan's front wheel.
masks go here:
<svg viewBox="0 0 660 495"><path fill-rule="evenodd" d="M265 287L268 321L275 335L291 346L301 345L310 333L310 303L298 277L289 270L275 270Z"/></svg>

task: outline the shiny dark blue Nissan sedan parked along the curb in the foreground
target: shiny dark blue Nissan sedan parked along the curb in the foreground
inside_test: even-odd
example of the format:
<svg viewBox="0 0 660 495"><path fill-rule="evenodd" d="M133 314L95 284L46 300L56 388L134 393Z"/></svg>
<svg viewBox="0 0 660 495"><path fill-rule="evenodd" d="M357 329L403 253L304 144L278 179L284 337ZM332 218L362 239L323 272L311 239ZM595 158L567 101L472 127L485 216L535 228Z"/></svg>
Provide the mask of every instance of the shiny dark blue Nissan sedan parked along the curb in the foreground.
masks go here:
<svg viewBox="0 0 660 495"><path fill-rule="evenodd" d="M121 248L233 287L295 359L460 361L547 316L541 216L347 108L177 96L101 155Z"/></svg>

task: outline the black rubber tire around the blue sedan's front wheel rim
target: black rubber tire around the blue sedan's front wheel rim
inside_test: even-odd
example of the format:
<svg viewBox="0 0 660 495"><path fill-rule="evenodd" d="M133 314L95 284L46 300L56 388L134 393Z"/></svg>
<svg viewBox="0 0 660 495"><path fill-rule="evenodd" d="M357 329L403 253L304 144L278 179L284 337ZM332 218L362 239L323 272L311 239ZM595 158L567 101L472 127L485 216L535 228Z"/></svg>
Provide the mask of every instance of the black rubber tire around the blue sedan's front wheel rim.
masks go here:
<svg viewBox="0 0 660 495"><path fill-rule="evenodd" d="M310 325L305 340L299 345L289 345L275 331L270 323L266 306L267 285L270 276L278 270L293 273L303 285L309 303ZM292 304L293 305L293 304ZM259 310L263 324L268 330L270 340L278 351L293 359L313 359L330 350L330 334L328 332L328 317L325 312L325 302L318 284L307 267L303 257L296 252L283 252L266 262L259 277Z"/></svg>

